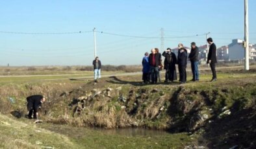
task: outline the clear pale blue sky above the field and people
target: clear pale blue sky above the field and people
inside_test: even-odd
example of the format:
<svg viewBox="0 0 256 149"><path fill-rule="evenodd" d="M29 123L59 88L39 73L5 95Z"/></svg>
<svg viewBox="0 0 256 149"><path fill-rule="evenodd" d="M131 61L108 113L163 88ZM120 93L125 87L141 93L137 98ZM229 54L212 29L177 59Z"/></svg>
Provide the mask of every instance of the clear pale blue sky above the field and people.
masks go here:
<svg viewBox="0 0 256 149"><path fill-rule="evenodd" d="M249 0L250 43L255 8ZM207 32L217 47L243 39L244 0L8 0L0 1L0 20L0 65L92 65L94 27L103 65L136 65L161 48L161 29L164 49L204 45Z"/></svg>

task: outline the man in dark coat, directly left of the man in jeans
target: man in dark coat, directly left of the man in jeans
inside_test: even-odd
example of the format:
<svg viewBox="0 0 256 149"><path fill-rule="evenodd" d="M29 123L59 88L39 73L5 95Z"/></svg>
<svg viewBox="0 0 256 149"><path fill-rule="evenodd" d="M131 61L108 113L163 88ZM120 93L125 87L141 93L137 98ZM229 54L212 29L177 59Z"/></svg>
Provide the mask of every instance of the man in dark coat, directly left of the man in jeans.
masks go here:
<svg viewBox="0 0 256 149"><path fill-rule="evenodd" d="M183 48L183 44L179 43L179 58L177 60L179 67L179 81L181 84L186 83L186 60L188 59L186 49Z"/></svg>

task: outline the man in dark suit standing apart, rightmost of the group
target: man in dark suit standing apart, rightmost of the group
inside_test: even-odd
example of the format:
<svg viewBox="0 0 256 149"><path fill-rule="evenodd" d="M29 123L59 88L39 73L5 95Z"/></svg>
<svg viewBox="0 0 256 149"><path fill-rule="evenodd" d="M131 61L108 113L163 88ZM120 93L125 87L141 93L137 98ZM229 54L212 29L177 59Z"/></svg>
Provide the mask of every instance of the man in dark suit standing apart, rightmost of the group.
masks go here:
<svg viewBox="0 0 256 149"><path fill-rule="evenodd" d="M215 63L217 63L217 56L216 56L216 45L213 43L212 38L208 38L207 42L210 44L210 49L207 56L207 63L210 63L211 70L212 70L212 80L214 82L217 80Z"/></svg>

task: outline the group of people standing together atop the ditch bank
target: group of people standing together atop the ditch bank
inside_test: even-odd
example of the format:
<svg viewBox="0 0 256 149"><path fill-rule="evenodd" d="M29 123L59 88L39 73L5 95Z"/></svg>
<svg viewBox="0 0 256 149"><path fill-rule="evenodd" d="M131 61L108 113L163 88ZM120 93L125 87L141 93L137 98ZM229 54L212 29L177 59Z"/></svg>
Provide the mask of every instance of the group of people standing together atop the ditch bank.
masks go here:
<svg viewBox="0 0 256 149"><path fill-rule="evenodd" d="M208 38L207 42L210 44L210 49L207 56L207 63L210 64L212 70L211 82L214 82L217 80L215 69L215 63L217 63L216 45L213 43L212 38ZM148 52L145 53L145 56L142 59L142 80L144 84L157 84L157 81L160 80L160 70L162 69L162 67L164 67L164 69L166 70L166 83L177 80L176 64L178 65L179 70L179 82L181 84L185 84L187 60L190 60L191 63L191 71L193 75L191 81L199 81L199 49L196 46L196 43L191 43L191 51L189 55L187 50L183 47L182 43L179 43L178 47L179 49L177 57L170 48L166 49L166 51L162 52L162 54L159 53L159 49L157 48L151 49L151 54L149 54ZM162 65L162 56L165 58L164 65Z"/></svg>

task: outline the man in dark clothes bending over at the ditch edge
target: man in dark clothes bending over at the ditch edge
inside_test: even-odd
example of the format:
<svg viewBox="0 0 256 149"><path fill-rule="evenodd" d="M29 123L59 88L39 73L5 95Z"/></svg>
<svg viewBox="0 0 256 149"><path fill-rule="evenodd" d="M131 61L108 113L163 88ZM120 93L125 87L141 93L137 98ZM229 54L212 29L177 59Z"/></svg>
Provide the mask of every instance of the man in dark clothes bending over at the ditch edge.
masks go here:
<svg viewBox="0 0 256 149"><path fill-rule="evenodd" d="M42 95L32 95L27 97L27 110L29 111L29 119L38 119L38 109L42 107L42 103L45 102L45 98Z"/></svg>

